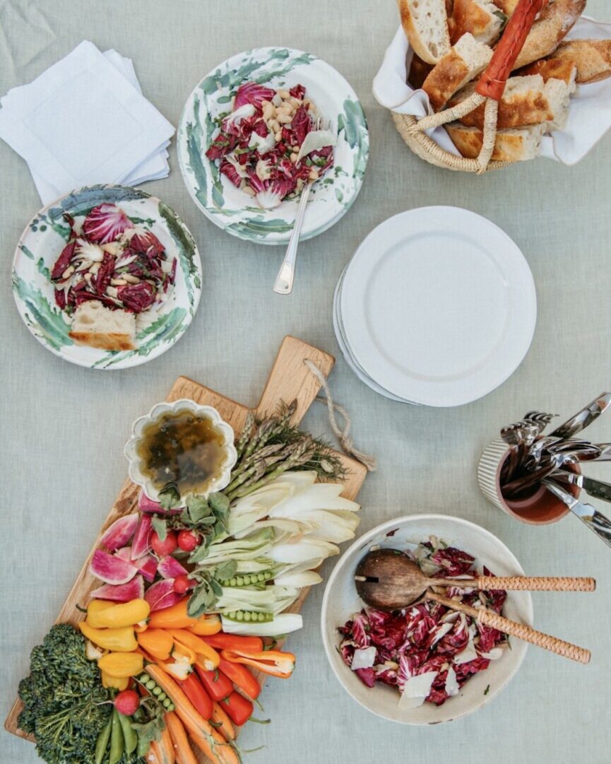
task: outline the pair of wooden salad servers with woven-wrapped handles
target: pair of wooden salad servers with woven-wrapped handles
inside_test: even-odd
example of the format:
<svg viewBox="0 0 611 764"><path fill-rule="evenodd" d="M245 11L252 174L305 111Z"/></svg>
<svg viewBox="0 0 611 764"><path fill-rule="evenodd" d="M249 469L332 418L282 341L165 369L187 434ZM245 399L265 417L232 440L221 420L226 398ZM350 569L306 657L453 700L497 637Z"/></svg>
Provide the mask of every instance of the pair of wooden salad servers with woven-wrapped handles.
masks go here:
<svg viewBox="0 0 611 764"><path fill-rule="evenodd" d="M587 663L590 651L564 642L555 636L509 620L486 607L471 607L432 591L431 587L500 589L503 591L594 591L593 578L531 578L528 576L474 576L473 578L429 578L399 549L376 549L367 552L354 575L359 597L379 610L400 610L423 600L438 602L451 610L466 613L485 626L524 639L532 645L557 653L564 658Z"/></svg>

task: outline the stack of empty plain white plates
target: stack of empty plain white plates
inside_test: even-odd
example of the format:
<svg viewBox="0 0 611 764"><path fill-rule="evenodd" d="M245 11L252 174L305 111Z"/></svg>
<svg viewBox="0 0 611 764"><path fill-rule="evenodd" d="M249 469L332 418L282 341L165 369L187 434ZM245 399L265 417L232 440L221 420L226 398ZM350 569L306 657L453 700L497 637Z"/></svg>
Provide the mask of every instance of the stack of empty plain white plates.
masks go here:
<svg viewBox="0 0 611 764"><path fill-rule="evenodd" d="M392 400L460 406L519 366L535 332L522 252L489 220L423 207L378 225L335 290L333 321L354 374Z"/></svg>

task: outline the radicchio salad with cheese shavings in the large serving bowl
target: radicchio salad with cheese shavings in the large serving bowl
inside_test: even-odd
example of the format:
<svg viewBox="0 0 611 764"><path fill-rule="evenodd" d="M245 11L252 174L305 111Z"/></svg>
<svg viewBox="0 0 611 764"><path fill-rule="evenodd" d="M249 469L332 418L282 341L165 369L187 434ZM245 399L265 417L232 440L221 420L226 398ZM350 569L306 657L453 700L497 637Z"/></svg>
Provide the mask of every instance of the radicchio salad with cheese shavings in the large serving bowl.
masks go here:
<svg viewBox="0 0 611 764"><path fill-rule="evenodd" d="M480 575L475 558L432 536L414 552L405 552L428 576L442 578ZM483 575L493 575L485 566ZM457 586L444 594L472 607L500 613L505 591L482 591ZM441 590L440 590L441 591ZM441 706L457 695L473 675L503 655L506 636L477 623L464 613L435 602L423 602L388 613L367 607L338 628L344 662L360 681L396 687L399 705L414 708L425 701Z"/></svg>

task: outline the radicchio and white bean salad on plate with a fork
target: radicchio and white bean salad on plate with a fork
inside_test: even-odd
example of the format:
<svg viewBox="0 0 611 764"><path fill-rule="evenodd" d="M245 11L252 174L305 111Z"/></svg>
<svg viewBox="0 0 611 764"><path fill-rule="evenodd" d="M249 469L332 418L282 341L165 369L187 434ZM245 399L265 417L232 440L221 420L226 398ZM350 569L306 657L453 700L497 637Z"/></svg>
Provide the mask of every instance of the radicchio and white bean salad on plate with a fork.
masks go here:
<svg viewBox="0 0 611 764"><path fill-rule="evenodd" d="M218 117L205 155L262 209L273 209L318 180L333 164L335 134L319 129L305 87L272 89L244 83L231 112Z"/></svg>

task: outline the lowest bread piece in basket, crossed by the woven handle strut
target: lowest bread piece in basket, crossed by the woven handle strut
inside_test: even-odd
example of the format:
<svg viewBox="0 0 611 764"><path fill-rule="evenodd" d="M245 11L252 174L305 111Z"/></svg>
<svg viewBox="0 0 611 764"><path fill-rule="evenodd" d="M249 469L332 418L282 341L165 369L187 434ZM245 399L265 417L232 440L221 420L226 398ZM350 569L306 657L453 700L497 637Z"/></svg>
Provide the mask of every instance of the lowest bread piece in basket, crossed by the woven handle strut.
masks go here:
<svg viewBox="0 0 611 764"><path fill-rule="evenodd" d="M467 128L460 122L451 122L445 129L452 143L463 157L476 159L480 154L483 131L479 128ZM501 162L522 162L538 156L545 125L531 125L529 128L499 130L492 154L493 160Z"/></svg>

